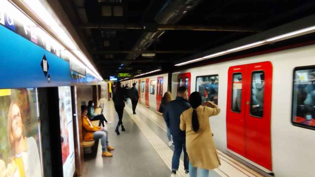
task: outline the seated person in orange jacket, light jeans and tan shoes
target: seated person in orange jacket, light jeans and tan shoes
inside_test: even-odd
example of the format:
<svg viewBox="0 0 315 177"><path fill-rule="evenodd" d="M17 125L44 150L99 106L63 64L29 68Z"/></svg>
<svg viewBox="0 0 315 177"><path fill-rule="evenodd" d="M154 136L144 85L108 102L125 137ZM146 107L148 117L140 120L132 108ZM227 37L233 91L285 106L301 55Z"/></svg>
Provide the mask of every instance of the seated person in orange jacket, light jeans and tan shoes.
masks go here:
<svg viewBox="0 0 315 177"><path fill-rule="evenodd" d="M84 141L93 141L99 140L102 144L102 156L104 157L112 157L112 153L109 151L113 151L115 148L108 145L108 131L103 127L93 126L89 118L86 116L88 113L87 107L81 107L82 114L82 125L83 125L83 140Z"/></svg>

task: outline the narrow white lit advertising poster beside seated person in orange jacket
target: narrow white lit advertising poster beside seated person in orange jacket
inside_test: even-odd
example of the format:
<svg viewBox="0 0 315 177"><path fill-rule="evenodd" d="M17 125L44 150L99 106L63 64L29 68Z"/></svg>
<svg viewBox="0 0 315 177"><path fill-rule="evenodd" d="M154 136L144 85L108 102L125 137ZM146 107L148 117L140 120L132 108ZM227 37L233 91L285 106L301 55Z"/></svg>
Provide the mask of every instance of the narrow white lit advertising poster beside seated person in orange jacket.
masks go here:
<svg viewBox="0 0 315 177"><path fill-rule="evenodd" d="M58 87L61 152L63 176L72 177L75 171L72 104L70 86Z"/></svg>

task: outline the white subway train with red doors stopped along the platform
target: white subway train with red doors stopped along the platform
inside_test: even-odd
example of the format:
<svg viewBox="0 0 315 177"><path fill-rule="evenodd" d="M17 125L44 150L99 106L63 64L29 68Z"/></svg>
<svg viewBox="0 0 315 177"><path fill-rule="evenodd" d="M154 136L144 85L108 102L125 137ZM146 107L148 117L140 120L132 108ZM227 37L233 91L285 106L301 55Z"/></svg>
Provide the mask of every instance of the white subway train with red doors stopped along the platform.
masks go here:
<svg viewBox="0 0 315 177"><path fill-rule="evenodd" d="M221 108L210 118L217 148L275 176L315 176L315 45L199 66L172 73L179 86ZM168 74L137 83L139 102L158 111Z"/></svg>

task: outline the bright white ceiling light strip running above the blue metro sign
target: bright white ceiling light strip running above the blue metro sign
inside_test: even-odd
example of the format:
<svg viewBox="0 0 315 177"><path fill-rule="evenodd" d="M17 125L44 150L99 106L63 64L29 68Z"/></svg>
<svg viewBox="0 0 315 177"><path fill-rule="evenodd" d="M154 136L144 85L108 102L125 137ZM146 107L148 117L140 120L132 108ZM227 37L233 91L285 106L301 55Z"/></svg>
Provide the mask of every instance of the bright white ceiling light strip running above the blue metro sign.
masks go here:
<svg viewBox="0 0 315 177"><path fill-rule="evenodd" d="M67 33L58 25L57 21L49 14L49 12L44 8L43 4L38 0L23 0L34 13L40 17L47 26L53 29L54 33L62 40L72 51L83 61L83 63L98 77L100 80L103 78L97 72L95 67L87 59L87 57L82 53L81 50L77 48L77 44L72 39L72 36L68 36ZM60 23L60 22L59 22ZM62 25L60 23L60 25Z"/></svg>

